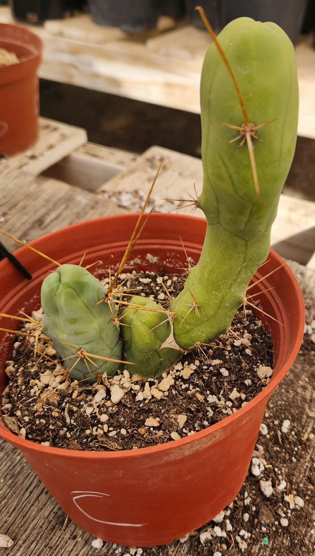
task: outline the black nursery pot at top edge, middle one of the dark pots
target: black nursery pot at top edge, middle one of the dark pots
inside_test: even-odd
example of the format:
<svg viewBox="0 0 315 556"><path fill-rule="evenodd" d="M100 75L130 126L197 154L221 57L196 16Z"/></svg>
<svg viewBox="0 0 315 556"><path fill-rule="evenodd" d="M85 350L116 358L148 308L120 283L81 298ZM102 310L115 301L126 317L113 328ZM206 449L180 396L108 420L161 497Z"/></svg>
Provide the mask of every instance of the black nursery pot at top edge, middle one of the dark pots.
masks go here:
<svg viewBox="0 0 315 556"><path fill-rule="evenodd" d="M156 27L157 0L89 0L91 16L99 25L120 27L127 33Z"/></svg>

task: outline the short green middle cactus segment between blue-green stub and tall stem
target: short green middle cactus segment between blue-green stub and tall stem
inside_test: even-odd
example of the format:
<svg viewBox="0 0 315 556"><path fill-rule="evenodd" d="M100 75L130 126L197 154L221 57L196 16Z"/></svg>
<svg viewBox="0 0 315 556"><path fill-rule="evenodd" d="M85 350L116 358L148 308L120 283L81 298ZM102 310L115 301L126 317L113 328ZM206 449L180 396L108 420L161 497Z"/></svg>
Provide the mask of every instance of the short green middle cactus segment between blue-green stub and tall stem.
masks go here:
<svg viewBox="0 0 315 556"><path fill-rule="evenodd" d="M146 297L134 296L131 304L141 305L147 309L161 310L154 301ZM164 342L172 335L170 317L167 313L129 309L123 311L122 336L124 340L124 353L128 361L137 366L129 368L131 373L149 378L161 375L169 369L181 356L179 349L162 347ZM169 345L174 345L170 342Z"/></svg>

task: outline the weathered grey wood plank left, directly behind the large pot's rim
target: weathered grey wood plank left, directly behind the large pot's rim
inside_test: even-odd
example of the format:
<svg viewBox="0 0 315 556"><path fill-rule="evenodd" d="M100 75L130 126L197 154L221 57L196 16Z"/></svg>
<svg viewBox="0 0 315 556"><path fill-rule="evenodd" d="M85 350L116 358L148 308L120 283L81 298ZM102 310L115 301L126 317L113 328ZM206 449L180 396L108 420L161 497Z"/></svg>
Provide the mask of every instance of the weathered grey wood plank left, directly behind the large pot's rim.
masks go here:
<svg viewBox="0 0 315 556"><path fill-rule="evenodd" d="M32 241L65 226L124 212L109 200L52 178L33 177L18 170L0 173L1 227L24 241ZM8 249L17 244L3 240Z"/></svg>

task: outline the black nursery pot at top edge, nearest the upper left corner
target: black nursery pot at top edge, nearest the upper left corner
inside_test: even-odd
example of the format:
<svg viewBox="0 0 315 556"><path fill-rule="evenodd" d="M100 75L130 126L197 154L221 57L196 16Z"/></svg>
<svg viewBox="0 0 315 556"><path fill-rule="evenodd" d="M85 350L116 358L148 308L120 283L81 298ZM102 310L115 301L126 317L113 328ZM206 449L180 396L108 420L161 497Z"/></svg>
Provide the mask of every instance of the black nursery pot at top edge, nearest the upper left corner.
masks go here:
<svg viewBox="0 0 315 556"><path fill-rule="evenodd" d="M17 21L42 23L46 19L60 19L64 16L64 0L9 0L12 15Z"/></svg>

